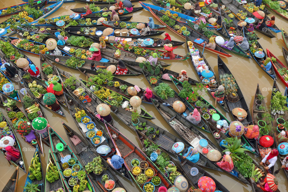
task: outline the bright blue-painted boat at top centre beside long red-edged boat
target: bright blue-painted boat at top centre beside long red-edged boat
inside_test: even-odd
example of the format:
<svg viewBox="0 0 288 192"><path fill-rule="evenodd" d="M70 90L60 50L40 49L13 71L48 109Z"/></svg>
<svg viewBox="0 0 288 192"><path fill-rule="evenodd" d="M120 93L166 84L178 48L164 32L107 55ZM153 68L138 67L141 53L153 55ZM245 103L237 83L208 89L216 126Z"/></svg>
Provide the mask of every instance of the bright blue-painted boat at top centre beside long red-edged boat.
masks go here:
<svg viewBox="0 0 288 192"><path fill-rule="evenodd" d="M166 9L166 8L163 8L163 7L159 7L159 6L156 6L156 5L152 5L152 4L149 4L149 3L143 3L143 2L141 2L141 1L139 1L139 3L141 4L141 6L142 6L145 10L148 10L149 12L150 12L150 10L149 10L148 7L150 7L151 9L158 10L158 11L160 11L160 10L165 10L165 11L166 11L166 10L169 10L169 9ZM195 17L191 17L191 16L185 15L185 14L183 14L183 13L179 13L179 12L173 11L173 10L169 10L169 11L170 11L170 13L172 13L172 14L174 14L174 13L178 14L178 16L182 18L182 19L180 20L180 22L182 22L185 26L188 26L188 27L189 27L189 25L187 24L186 19L187 19L187 20L190 20L191 22L193 22L193 21L196 20ZM208 24L207 27L208 27L208 28L216 28L215 26L213 26L213 25L211 25L211 24Z"/></svg>

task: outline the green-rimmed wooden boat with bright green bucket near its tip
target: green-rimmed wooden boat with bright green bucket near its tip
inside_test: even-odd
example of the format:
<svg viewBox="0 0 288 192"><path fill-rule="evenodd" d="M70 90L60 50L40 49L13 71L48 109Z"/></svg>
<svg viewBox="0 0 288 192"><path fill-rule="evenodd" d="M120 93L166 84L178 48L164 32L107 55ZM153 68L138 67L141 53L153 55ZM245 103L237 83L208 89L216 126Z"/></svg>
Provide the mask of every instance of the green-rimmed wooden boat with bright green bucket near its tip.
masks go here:
<svg viewBox="0 0 288 192"><path fill-rule="evenodd" d="M61 179L63 180L64 182L64 185L66 187L66 189L68 190L68 192L72 192L73 190L73 187L71 187L69 184L68 184L68 178L64 177L63 175L63 168L62 168L62 163L61 163L61 157L65 157L66 155L71 155L71 158L74 158L76 160L76 164L79 164L80 167L83 167L83 165L81 165L81 163L79 162L77 156L75 155L75 153L73 152L73 150L71 149L71 147L66 143L66 141L52 128L52 127L49 127L48 128L48 131L49 131L49 139L50 139L50 145L51 145L51 150L52 150L52 155L53 155L53 158L55 160L55 164L59 170L59 173L60 173L60 176L61 176ZM63 148L64 150L63 151L58 151L58 149L56 149L56 145L58 143L62 143L63 144ZM85 171L86 172L86 171ZM92 182L91 182L91 179L90 177L87 175L86 173L86 180L88 181L87 183L87 186L86 186L86 189L85 190L88 190L90 188L90 190L92 192L96 192Z"/></svg>

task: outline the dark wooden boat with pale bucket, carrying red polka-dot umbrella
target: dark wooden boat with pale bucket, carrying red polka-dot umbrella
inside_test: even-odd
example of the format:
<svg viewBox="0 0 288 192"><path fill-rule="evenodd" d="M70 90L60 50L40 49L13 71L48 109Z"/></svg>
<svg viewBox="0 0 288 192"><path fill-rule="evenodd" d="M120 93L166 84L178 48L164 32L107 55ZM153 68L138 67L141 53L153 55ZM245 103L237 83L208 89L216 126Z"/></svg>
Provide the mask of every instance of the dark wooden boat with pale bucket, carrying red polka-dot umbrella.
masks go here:
<svg viewBox="0 0 288 192"><path fill-rule="evenodd" d="M203 170L201 167L197 166L192 161L187 160L183 156L181 156L178 153L174 153L178 161L180 162L181 166L183 167L183 170L185 172L185 176L187 177L187 180L190 180L194 185L196 185L196 188L198 187L198 180L201 177L210 177L216 184L216 190L223 191L223 192L229 192L226 187L224 187L217 179L215 179L213 176L211 176L209 173L207 173L205 170ZM199 171L199 173L196 176L192 176L190 174L190 170L192 167L196 167Z"/></svg>

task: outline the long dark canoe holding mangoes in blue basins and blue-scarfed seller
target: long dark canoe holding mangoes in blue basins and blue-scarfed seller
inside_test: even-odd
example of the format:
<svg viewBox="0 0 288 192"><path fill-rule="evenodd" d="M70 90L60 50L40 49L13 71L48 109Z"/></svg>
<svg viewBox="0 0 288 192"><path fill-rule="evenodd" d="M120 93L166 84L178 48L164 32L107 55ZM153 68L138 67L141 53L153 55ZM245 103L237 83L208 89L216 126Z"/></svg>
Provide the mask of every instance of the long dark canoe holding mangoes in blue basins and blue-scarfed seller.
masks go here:
<svg viewBox="0 0 288 192"><path fill-rule="evenodd" d="M87 94L88 95L88 94ZM100 147L100 146L107 146L108 148L110 148L111 149L111 152L109 152L108 154L101 154L101 158L103 159L103 161L107 161L107 158L111 158L113 155L114 155L114 153L115 153L115 148L114 148L114 146L113 146L113 143L112 143L112 141L110 140L110 138L109 138L109 135L107 134L107 131L106 131L106 129L103 127L103 126L101 126L100 124L99 124L99 122L96 120L96 116L95 116L95 112L96 112L96 107L97 107L97 105L90 105L90 106L85 106L85 107L83 107L82 105L80 105L79 104L79 102L75 99L75 98L73 98L73 97L71 97L70 95L68 95L68 94L65 94L65 97L67 98L67 100L70 102L69 103L69 105L68 105L68 110L69 110L69 113L70 113L70 115L73 117L73 120L74 120L74 123L76 124L76 126L77 126L77 128L78 128L78 131L81 133L81 137L84 137L85 138L85 140L82 140L83 141L83 145L85 145L85 146L88 146L90 149L92 149L91 151L93 151L93 150L97 150L97 148L98 147ZM73 108L73 107L74 108ZM84 127L84 125L80 122L77 122L76 121L76 119L75 119L75 113L76 113L76 110L84 110L85 111L85 113L87 114L87 116L91 119L91 121L92 122L94 122L95 123L95 131L96 130L101 130L102 132L103 132L103 136L101 137L102 138L102 142L99 144L99 145L97 145L97 146L95 146L92 142L91 142L91 138L88 138L87 137L87 135L86 135L86 133L87 133L87 129ZM83 128L84 127L84 128ZM65 128L65 127L64 127ZM65 129L65 131L66 130L70 130L70 128L68 128L67 126L66 126L66 128L67 129ZM70 131L68 131L68 132L70 132ZM75 131L73 131L75 134L76 134L76 132ZM73 148L73 146L72 146L72 148ZM77 147L77 151L79 151L79 148ZM97 153L98 154L98 153ZM98 156L98 155L97 155ZM93 159L93 158L92 158ZM111 168L113 168L113 167L111 167ZM113 168L114 169L114 168ZM117 173L119 173L122 177L125 177L126 179L131 179L131 176L130 176L130 174L128 173L128 170L125 168L125 166L123 166L122 168L120 168L119 170L115 170Z"/></svg>

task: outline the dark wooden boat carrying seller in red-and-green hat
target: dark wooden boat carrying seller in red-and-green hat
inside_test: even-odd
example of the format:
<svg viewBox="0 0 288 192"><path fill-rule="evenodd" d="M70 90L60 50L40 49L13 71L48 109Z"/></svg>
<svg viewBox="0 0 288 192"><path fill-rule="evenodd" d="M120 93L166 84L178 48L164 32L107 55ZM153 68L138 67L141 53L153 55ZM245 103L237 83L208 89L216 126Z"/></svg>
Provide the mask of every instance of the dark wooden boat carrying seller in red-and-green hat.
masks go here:
<svg viewBox="0 0 288 192"><path fill-rule="evenodd" d="M52 75L58 75L58 72L57 72L57 69L56 69L56 66L52 64L52 62L46 58L42 53L40 54L40 74L41 74L41 77L43 78L44 80L44 87L47 88L47 86L49 85L48 83L48 75L46 73L44 73L43 71L43 65L50 65L52 68L53 68L53 72L52 72ZM61 82L60 80L58 81L60 84L63 83ZM65 96L62 94L62 95L55 95L56 96L56 99L59 103L63 104L65 107L66 107L66 100L65 100Z"/></svg>

